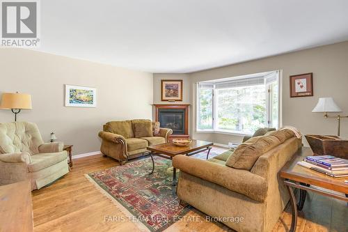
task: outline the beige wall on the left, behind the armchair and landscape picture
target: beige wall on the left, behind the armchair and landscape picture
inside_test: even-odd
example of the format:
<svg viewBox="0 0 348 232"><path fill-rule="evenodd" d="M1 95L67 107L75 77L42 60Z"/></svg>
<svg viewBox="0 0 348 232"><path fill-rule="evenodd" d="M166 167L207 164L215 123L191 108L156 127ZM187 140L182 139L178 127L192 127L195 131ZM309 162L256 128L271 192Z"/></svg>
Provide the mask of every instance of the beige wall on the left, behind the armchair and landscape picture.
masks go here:
<svg viewBox="0 0 348 232"><path fill-rule="evenodd" d="M97 107L64 107L64 84L97 88ZM30 93L33 109L19 121L37 123L43 139L54 131L58 141L74 144L74 155L100 150L103 123L152 118L151 73L116 68L28 49L0 49L0 93ZM14 120L0 110L0 123Z"/></svg>

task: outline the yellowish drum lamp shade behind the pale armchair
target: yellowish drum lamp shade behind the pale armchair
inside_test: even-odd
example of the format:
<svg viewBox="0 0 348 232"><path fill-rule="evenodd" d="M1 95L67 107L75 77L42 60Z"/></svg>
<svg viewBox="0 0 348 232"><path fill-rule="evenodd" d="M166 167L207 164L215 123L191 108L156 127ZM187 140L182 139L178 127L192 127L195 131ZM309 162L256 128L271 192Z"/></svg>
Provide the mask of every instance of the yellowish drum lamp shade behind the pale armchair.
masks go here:
<svg viewBox="0 0 348 232"><path fill-rule="evenodd" d="M3 93L0 109L32 109L31 95L25 93Z"/></svg>

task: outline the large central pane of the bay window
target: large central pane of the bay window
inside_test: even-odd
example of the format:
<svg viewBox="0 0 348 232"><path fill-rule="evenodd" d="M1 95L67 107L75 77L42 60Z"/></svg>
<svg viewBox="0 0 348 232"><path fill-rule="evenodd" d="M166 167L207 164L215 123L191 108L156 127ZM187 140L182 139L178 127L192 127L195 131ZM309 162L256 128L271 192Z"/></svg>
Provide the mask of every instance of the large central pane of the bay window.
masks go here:
<svg viewBox="0 0 348 232"><path fill-rule="evenodd" d="M251 134L266 124L264 85L219 89L217 128Z"/></svg>

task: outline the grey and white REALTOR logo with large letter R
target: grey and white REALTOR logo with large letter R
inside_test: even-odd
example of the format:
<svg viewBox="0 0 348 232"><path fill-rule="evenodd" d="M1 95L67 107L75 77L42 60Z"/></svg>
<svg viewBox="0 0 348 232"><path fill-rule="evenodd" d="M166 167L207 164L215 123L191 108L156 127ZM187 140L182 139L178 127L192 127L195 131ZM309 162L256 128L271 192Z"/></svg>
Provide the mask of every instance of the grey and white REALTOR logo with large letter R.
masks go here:
<svg viewBox="0 0 348 232"><path fill-rule="evenodd" d="M38 47L38 2L1 1L1 45Z"/></svg>

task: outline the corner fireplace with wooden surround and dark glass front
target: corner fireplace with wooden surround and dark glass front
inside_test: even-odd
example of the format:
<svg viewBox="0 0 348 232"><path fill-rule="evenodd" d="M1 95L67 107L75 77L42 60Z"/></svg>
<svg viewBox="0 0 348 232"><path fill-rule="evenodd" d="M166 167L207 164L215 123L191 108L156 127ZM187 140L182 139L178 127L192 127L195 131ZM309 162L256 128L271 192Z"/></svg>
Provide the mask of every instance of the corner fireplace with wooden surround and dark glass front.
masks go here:
<svg viewBox="0 0 348 232"><path fill-rule="evenodd" d="M173 138L189 138L189 105L155 105L156 117L161 127L170 128Z"/></svg>

